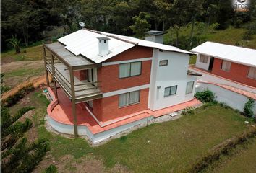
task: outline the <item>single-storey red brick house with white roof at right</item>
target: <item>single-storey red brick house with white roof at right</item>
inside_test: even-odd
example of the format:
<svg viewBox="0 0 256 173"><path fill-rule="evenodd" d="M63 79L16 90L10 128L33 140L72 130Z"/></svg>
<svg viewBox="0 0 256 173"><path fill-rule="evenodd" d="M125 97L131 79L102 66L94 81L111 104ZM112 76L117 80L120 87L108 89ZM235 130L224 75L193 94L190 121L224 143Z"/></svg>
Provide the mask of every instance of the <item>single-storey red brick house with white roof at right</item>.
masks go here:
<svg viewBox="0 0 256 173"><path fill-rule="evenodd" d="M205 42L191 51L197 53L197 68L256 87L256 50Z"/></svg>

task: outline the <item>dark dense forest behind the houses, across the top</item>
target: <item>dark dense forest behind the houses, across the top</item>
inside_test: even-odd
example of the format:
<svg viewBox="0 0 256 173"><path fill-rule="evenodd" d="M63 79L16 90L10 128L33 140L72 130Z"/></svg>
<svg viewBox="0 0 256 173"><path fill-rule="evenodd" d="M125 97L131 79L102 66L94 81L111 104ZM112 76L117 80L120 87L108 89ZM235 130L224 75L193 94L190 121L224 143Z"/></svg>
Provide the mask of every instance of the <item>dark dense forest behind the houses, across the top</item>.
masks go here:
<svg viewBox="0 0 256 173"><path fill-rule="evenodd" d="M166 44L186 49L197 45L200 33L194 33L194 26L198 24L215 30L244 27L244 39L249 40L256 32L256 2L251 1L248 12L235 12L233 4L223 0L5 0L1 1L1 51L15 44L27 47L54 41L79 30L80 21L92 30L140 38L147 30L169 30L171 41ZM180 28L189 26L189 37L179 37ZM48 36L52 30L61 32Z"/></svg>

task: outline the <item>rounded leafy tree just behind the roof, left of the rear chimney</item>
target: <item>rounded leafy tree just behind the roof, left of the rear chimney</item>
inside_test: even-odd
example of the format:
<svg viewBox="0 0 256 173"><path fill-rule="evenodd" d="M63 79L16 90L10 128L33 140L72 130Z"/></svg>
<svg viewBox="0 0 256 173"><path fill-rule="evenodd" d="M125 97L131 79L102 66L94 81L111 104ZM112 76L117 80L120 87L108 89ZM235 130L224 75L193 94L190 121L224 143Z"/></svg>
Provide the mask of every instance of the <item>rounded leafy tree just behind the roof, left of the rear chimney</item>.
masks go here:
<svg viewBox="0 0 256 173"><path fill-rule="evenodd" d="M150 14L146 12L140 12L139 16L132 17L135 25L130 26L132 31L135 33L136 37L145 37L145 32L149 30L150 24L148 20L150 19Z"/></svg>

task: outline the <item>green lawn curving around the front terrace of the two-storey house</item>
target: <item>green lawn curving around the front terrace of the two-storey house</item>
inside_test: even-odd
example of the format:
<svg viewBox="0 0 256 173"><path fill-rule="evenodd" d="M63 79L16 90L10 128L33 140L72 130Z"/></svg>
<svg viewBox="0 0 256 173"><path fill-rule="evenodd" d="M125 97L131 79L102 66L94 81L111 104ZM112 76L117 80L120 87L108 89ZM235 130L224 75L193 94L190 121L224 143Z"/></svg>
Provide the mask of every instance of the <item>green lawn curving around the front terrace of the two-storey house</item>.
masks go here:
<svg viewBox="0 0 256 173"><path fill-rule="evenodd" d="M248 129L244 123L247 118L213 105L197 109L195 115L149 125L101 146L90 147L83 138L64 138L46 130L43 117L48 102L40 92L30 94L30 102L35 106L33 120L38 122L38 137L49 139L49 154L55 159L72 155L72 162L96 156L106 167L121 164L134 172L186 172L210 148Z"/></svg>

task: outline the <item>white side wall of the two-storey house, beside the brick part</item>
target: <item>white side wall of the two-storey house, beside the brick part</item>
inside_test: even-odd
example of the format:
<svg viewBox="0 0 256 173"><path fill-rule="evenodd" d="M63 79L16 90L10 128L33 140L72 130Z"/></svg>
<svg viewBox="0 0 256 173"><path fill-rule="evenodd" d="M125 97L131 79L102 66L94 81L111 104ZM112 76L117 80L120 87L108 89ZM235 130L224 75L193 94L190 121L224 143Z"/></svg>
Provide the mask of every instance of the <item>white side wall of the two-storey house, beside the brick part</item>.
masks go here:
<svg viewBox="0 0 256 173"><path fill-rule="evenodd" d="M159 66L161 60L168 60L168 66ZM197 77L187 75L188 65L189 55L187 54L153 50L148 102L150 110L160 110L194 98ZM195 81L191 94L185 94L188 81ZM176 94L164 97L164 89L175 85L177 85Z"/></svg>

